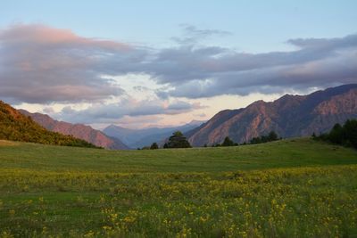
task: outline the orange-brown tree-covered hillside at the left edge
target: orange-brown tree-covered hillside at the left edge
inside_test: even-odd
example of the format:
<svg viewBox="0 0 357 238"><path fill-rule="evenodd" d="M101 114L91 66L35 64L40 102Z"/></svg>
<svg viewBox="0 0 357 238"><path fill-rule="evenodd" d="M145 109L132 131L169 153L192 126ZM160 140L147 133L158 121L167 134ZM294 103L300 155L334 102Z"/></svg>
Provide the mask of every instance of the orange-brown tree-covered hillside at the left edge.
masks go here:
<svg viewBox="0 0 357 238"><path fill-rule="evenodd" d="M94 144L89 144L71 135L48 131L2 101L0 101L0 139L38 144L96 147Z"/></svg>

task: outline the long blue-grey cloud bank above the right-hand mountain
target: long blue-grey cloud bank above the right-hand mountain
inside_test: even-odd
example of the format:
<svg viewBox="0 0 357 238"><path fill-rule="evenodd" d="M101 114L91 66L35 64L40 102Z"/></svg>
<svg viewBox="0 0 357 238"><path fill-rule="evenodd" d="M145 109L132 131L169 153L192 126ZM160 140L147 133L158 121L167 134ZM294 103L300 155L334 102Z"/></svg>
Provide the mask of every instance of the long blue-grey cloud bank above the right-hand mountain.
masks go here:
<svg viewBox="0 0 357 238"><path fill-rule="evenodd" d="M273 94L356 82L357 35L288 42L297 49L255 54L195 45L164 49L152 62L151 74L173 88L157 94L162 98Z"/></svg>

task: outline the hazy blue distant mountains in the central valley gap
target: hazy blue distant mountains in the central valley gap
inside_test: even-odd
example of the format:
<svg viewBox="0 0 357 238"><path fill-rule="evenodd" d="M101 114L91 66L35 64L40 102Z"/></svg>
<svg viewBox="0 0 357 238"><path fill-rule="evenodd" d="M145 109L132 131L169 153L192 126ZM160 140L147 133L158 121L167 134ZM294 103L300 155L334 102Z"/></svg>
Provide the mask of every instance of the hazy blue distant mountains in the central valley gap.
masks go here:
<svg viewBox="0 0 357 238"><path fill-rule="evenodd" d="M179 130L182 133L185 133L198 127L202 123L203 121L193 120L190 123L179 127L150 127L145 129L128 129L111 125L104 128L103 132L105 135L120 139L125 144L128 144L130 148L141 148L146 145L151 145L154 142L162 144L162 142L170 137L173 132Z"/></svg>

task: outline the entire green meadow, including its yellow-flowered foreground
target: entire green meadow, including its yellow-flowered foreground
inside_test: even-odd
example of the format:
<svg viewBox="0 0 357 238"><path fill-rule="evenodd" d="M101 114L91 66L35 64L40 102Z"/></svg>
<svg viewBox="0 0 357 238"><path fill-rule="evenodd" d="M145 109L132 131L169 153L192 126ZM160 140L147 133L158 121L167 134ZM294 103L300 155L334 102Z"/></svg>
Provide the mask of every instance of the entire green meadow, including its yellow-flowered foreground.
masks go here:
<svg viewBox="0 0 357 238"><path fill-rule="evenodd" d="M357 152L0 141L0 237L357 237Z"/></svg>

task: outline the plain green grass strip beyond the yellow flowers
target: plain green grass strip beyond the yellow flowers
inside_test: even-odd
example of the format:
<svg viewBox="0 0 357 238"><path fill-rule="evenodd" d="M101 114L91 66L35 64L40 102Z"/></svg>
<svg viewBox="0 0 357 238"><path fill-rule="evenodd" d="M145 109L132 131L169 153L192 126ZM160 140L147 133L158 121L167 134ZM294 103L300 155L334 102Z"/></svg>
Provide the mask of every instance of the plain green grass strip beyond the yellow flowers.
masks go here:
<svg viewBox="0 0 357 238"><path fill-rule="evenodd" d="M0 168L36 171L224 172L345 165L357 161L356 152L350 149L307 138L237 147L147 151L105 151L9 142L3 144L0 146Z"/></svg>

